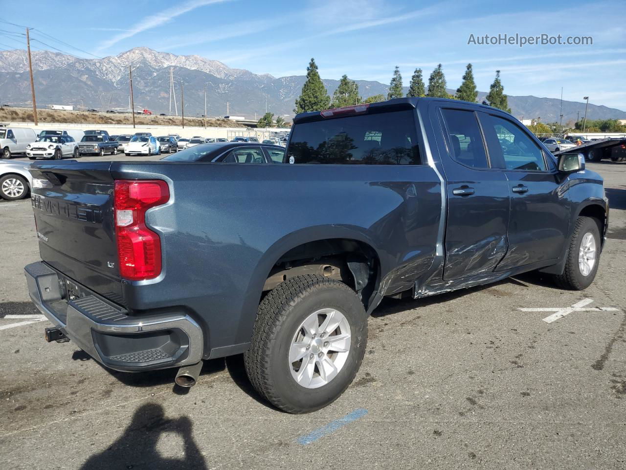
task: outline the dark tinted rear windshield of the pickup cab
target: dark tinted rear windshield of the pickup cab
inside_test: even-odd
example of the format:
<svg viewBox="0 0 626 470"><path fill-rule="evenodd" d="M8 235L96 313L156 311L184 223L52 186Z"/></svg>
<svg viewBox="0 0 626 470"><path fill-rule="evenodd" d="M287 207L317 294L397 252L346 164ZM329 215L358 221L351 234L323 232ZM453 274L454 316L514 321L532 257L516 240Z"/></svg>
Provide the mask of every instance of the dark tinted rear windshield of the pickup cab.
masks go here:
<svg viewBox="0 0 626 470"><path fill-rule="evenodd" d="M415 112L372 113L295 124L296 164L421 165Z"/></svg>

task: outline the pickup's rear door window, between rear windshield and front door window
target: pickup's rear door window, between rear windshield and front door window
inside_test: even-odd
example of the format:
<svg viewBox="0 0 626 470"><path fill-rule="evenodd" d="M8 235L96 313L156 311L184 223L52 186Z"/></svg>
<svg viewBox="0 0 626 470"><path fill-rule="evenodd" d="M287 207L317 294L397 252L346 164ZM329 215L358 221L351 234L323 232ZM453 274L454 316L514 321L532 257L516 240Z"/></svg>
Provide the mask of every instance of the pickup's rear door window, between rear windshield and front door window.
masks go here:
<svg viewBox="0 0 626 470"><path fill-rule="evenodd" d="M448 134L449 152L454 160L467 167L488 168L483 135L473 111L442 109Z"/></svg>

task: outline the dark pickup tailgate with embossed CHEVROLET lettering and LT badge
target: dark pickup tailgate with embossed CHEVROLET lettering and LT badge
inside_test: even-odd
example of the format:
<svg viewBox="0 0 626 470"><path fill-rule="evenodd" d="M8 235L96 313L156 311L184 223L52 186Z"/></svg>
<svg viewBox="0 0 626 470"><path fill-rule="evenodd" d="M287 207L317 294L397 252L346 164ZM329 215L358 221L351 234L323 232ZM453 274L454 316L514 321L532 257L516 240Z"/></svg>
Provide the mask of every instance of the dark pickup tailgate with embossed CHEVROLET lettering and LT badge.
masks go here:
<svg viewBox="0 0 626 470"><path fill-rule="evenodd" d="M31 167L31 202L41 259L68 278L121 303L110 162Z"/></svg>

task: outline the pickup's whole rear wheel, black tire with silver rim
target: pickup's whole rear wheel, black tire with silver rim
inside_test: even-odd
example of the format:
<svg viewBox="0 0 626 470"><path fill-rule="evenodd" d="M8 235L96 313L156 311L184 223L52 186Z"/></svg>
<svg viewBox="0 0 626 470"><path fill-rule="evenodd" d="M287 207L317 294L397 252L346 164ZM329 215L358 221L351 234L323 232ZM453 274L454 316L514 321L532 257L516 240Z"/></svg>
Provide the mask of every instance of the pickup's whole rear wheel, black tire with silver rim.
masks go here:
<svg viewBox="0 0 626 470"><path fill-rule="evenodd" d="M317 274L295 276L260 303L245 370L269 402L308 413L347 389L366 342L367 316L351 288Z"/></svg>

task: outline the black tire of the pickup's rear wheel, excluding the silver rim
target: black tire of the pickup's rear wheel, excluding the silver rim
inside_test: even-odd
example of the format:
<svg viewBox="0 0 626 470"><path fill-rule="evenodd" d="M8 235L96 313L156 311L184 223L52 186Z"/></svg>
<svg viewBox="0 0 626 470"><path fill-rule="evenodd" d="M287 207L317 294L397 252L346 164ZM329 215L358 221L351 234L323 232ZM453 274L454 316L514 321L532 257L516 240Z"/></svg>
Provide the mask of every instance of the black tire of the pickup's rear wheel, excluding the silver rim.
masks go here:
<svg viewBox="0 0 626 470"><path fill-rule="evenodd" d="M292 377L289 347L302 321L329 307L339 310L348 321L351 345L334 379L310 389ZM260 303L252 344L244 353L245 370L254 388L273 405L289 413L309 413L331 404L347 389L361 366L366 342L367 316L351 288L317 274L295 276L280 283Z"/></svg>

